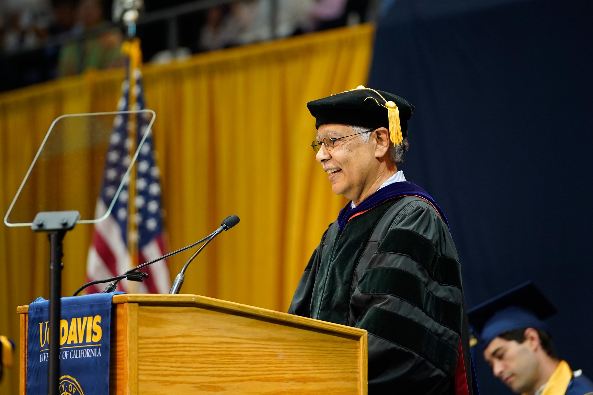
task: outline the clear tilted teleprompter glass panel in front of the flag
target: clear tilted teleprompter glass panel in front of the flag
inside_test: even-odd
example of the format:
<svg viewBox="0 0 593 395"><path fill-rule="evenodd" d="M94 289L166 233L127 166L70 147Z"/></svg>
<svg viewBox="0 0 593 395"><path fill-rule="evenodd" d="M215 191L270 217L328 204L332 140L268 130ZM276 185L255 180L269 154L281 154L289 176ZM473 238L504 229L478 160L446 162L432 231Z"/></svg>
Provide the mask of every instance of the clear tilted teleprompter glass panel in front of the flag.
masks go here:
<svg viewBox="0 0 593 395"><path fill-rule="evenodd" d="M66 210L79 211L78 223L105 219L129 182L154 118L152 110L56 118L16 191L4 223L31 226L41 211ZM95 210L100 193L110 204Z"/></svg>

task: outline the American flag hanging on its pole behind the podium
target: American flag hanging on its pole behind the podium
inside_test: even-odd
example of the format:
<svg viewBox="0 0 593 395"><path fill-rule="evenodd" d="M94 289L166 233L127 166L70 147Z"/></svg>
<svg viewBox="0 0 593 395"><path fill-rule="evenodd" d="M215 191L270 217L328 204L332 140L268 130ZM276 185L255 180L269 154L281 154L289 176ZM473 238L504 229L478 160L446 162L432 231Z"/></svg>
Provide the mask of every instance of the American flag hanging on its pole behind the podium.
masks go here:
<svg viewBox="0 0 593 395"><path fill-rule="evenodd" d="M145 108L144 91L142 86L142 73L140 69L132 72L134 84L130 90L129 74L122 84L122 97L117 104L118 111L142 110ZM149 113L135 114L135 141L141 142L146 127L151 117ZM109 149L103 172L103 184L95 208L95 218L107 212L107 207L125 175L130 164L130 148L132 139L129 139L130 114L119 114L115 117L111 131ZM87 278L88 281L121 275L132 268L129 243L133 243L136 255L136 265L151 261L164 255L164 238L161 215L161 183L157 162L155 160L152 131L146 137L136 160L135 171L135 197L130 200L130 192L126 184L111 210L107 219L95 224L93 243L88 252ZM129 205L133 210L129 210ZM130 211L133 213L129 218ZM134 226L128 232L129 221ZM138 284L139 293L168 293L171 287L169 269L166 261L157 262L145 269L149 278ZM118 289L127 291L127 281L118 284ZM88 288L90 293L103 291L104 284L93 285Z"/></svg>

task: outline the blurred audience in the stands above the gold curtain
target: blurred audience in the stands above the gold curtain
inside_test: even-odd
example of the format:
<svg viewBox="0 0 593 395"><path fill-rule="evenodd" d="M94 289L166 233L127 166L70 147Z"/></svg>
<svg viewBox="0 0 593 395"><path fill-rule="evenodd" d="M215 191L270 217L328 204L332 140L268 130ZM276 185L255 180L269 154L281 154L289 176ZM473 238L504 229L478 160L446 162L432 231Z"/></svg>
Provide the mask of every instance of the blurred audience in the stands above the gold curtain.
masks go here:
<svg viewBox="0 0 593 395"><path fill-rule="evenodd" d="M117 0L119 1L119 0ZM200 0L145 0L146 12ZM382 0L229 0L167 20L140 21L146 60L189 54L373 21ZM0 0L0 91L89 68L123 65L123 29L109 21L113 0ZM171 44L171 41L174 44Z"/></svg>

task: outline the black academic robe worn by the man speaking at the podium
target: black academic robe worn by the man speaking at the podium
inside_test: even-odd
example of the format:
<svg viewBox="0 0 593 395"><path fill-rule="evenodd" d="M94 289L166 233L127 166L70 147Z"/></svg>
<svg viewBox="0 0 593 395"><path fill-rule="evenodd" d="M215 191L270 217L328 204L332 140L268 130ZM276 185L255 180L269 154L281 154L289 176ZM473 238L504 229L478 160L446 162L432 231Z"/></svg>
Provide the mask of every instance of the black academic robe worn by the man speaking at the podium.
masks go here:
<svg viewBox="0 0 593 395"><path fill-rule="evenodd" d="M427 200L392 198L331 224L288 312L368 331L369 395L474 393L461 267Z"/></svg>

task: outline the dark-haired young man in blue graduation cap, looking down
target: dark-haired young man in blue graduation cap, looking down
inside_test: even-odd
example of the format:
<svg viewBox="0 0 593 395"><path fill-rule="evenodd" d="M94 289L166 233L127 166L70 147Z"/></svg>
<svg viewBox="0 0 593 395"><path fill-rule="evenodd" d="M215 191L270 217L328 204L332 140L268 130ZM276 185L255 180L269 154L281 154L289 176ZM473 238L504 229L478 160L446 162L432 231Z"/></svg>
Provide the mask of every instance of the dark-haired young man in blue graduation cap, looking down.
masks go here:
<svg viewBox="0 0 593 395"><path fill-rule="evenodd" d="M556 354L545 319L553 304L528 281L468 311L493 374L517 394L592 395L593 383Z"/></svg>

